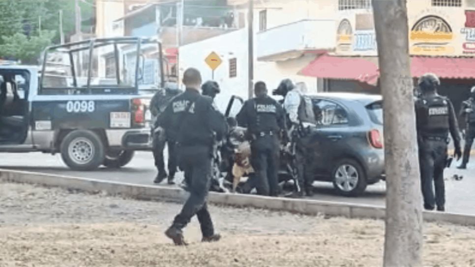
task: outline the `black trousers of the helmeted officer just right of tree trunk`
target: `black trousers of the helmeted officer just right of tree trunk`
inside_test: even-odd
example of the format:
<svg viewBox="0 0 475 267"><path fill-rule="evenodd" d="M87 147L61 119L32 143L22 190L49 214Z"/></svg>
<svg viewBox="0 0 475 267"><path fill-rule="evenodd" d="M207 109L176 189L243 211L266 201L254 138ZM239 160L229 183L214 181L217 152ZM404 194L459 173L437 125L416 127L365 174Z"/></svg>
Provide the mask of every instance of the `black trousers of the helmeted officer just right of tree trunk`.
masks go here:
<svg viewBox="0 0 475 267"><path fill-rule="evenodd" d="M424 208L433 210L445 205L444 169L447 162L447 143L444 139L424 138L419 143L419 167ZM434 196L435 187L435 196Z"/></svg>

